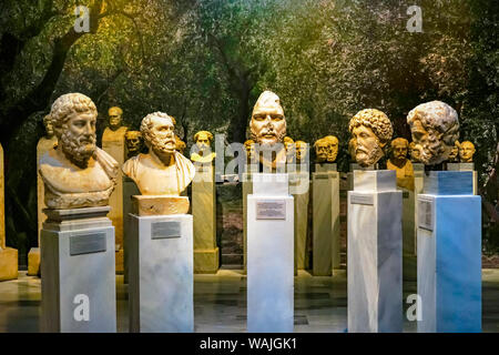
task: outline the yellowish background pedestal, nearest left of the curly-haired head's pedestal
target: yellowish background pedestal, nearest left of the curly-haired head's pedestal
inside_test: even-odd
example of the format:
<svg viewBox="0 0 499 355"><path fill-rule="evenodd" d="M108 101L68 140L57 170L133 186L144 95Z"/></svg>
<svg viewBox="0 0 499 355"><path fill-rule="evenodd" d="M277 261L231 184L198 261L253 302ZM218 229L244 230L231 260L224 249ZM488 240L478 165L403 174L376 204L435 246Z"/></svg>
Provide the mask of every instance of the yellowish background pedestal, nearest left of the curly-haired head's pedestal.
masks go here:
<svg viewBox="0 0 499 355"><path fill-rule="evenodd" d="M313 257L315 276L332 275L339 268L339 174L336 164L312 174L313 189Z"/></svg>

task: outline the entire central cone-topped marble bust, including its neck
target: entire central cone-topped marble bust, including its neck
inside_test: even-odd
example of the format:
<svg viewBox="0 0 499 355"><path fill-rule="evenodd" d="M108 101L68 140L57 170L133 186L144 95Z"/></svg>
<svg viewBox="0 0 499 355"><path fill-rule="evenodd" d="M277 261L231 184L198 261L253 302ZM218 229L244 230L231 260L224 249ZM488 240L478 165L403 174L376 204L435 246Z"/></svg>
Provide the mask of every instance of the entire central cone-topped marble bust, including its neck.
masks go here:
<svg viewBox="0 0 499 355"><path fill-rule="evenodd" d="M275 171L277 165L286 163L286 118L279 98L272 91L264 91L256 101L249 121L252 140L258 143L259 162L264 168ZM271 151L272 159L266 156Z"/></svg>

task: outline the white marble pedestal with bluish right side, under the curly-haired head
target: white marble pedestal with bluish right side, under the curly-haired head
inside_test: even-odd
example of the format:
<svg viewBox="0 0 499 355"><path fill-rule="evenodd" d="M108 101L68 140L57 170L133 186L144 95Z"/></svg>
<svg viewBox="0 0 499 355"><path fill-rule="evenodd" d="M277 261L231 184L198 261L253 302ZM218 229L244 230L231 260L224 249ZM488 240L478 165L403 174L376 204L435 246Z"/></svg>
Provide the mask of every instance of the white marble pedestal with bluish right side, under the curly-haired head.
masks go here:
<svg viewBox="0 0 499 355"><path fill-rule="evenodd" d="M355 171L348 192L348 332L403 331L401 192L393 170Z"/></svg>

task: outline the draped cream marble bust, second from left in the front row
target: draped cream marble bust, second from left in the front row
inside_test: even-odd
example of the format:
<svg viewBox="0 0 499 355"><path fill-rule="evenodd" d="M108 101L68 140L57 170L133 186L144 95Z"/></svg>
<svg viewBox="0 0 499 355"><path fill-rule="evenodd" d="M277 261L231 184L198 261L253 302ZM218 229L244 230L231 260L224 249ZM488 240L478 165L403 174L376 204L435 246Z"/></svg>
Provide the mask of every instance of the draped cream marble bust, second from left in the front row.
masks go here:
<svg viewBox="0 0 499 355"><path fill-rule="evenodd" d="M129 159L123 173L142 195L179 196L194 179L193 163L175 151L175 120L163 112L147 114L141 133L149 152Z"/></svg>

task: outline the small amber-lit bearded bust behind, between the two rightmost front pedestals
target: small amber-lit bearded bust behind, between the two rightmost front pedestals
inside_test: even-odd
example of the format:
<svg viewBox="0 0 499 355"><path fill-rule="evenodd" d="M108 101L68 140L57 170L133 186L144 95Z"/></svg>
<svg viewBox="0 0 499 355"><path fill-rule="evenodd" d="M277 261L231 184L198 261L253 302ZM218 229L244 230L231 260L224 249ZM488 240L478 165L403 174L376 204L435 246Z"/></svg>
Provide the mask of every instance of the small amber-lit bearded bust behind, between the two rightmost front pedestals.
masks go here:
<svg viewBox="0 0 499 355"><path fill-rule="evenodd" d="M397 186L414 191L414 168L407 159L409 142L404 138L397 138L391 141L390 148L390 159L386 168L396 171Z"/></svg>

